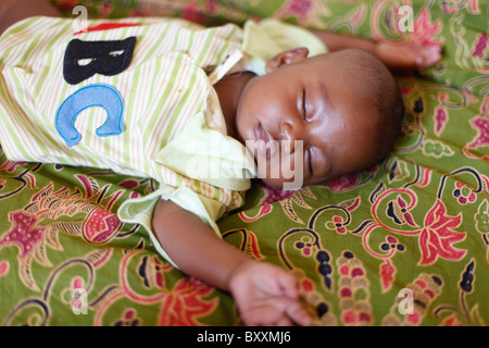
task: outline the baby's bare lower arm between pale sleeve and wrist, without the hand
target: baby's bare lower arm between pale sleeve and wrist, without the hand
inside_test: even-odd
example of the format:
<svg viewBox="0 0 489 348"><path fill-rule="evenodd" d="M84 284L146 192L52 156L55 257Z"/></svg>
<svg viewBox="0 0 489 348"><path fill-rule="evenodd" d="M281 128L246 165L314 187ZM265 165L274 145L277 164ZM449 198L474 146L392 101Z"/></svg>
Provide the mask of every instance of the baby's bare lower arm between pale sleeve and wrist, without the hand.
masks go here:
<svg viewBox="0 0 489 348"><path fill-rule="evenodd" d="M158 203L152 224L161 246L183 272L223 290L229 290L233 271L252 261L172 201Z"/></svg>

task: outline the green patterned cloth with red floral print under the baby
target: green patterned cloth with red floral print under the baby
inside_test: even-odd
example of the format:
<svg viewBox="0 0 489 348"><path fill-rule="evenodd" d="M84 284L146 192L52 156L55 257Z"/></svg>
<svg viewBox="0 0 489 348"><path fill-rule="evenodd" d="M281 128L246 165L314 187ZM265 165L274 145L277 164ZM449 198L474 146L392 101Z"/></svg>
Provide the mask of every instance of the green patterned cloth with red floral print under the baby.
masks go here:
<svg viewBox="0 0 489 348"><path fill-rule="evenodd" d="M230 244L299 276L319 325L489 323L488 2L54 2L66 15L80 3L91 16L209 25L275 16L377 40L441 41L442 61L398 78L406 124L388 159L292 195L256 183L220 226ZM413 32L397 25L403 4ZM143 178L1 154L0 324L239 325L228 294L172 268L146 231L118 221L125 199L153 189Z"/></svg>

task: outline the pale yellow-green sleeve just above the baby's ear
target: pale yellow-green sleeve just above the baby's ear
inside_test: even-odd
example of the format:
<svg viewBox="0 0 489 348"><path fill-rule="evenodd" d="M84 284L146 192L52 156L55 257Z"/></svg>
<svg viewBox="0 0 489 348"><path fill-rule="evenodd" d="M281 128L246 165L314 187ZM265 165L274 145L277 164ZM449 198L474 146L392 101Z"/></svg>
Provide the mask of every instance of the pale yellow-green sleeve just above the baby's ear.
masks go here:
<svg viewBox="0 0 489 348"><path fill-rule="evenodd" d="M300 26L275 18L266 18L260 23L247 21L244 24L241 50L259 75L265 74L268 60L298 47L306 47L309 57L328 52L326 45L317 36Z"/></svg>

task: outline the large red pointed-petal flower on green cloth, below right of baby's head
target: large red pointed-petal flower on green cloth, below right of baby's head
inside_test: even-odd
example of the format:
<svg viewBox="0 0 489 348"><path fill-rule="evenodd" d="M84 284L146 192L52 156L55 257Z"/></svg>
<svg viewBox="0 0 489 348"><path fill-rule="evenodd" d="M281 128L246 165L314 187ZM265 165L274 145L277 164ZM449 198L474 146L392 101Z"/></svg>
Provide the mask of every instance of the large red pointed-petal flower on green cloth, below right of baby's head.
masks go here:
<svg viewBox="0 0 489 348"><path fill-rule="evenodd" d="M467 250L454 248L452 245L465 239L465 233L455 232L462 223L462 216L448 216L444 204L437 200L425 217L425 227L419 236L419 247L423 258L419 264L429 265L436 262L438 257L447 260L459 261Z"/></svg>

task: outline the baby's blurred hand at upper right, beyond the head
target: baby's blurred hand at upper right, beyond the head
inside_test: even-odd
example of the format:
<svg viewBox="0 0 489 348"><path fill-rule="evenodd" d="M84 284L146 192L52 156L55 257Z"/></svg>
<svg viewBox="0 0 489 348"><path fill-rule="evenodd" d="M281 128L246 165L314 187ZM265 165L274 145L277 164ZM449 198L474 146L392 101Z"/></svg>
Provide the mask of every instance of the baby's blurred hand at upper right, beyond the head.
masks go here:
<svg viewBox="0 0 489 348"><path fill-rule="evenodd" d="M441 59L441 44L422 45L414 41L378 42L374 54L394 70L419 70Z"/></svg>

